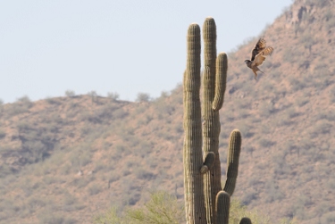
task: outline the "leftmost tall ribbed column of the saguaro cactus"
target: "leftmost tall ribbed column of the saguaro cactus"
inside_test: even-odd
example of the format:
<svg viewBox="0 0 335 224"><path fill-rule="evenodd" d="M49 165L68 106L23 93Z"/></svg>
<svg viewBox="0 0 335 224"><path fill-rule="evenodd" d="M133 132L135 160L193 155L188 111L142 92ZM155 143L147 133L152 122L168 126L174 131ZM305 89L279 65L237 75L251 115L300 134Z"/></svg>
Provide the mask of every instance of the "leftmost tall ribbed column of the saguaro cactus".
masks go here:
<svg viewBox="0 0 335 224"><path fill-rule="evenodd" d="M184 190L188 224L205 224L204 182L200 106L200 27L188 27L188 61L183 79L184 93Z"/></svg>

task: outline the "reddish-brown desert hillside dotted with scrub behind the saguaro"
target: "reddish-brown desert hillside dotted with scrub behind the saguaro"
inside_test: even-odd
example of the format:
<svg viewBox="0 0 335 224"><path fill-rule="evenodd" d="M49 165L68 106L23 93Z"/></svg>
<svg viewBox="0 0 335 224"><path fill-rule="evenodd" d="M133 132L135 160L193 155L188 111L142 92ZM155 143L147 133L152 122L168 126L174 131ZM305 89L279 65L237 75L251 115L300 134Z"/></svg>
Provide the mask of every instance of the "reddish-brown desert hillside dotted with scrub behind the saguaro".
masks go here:
<svg viewBox="0 0 335 224"><path fill-rule="evenodd" d="M258 37L229 54L222 176L230 131L240 129L234 195L274 223L335 223L334 15L331 0L283 12L261 34L274 53L257 81L244 60ZM180 86L151 102L77 95L0 105L0 223L91 223L156 189L182 201L182 114Z"/></svg>

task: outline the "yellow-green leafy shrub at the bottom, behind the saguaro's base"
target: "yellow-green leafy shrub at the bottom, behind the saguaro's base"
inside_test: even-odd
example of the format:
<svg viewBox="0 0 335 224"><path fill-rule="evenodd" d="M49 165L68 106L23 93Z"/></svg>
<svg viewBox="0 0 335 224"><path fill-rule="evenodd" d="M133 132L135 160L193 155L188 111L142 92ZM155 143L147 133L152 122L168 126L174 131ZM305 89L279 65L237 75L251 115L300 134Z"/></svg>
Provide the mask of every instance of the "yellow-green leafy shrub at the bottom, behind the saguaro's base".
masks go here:
<svg viewBox="0 0 335 224"><path fill-rule="evenodd" d="M251 197L255 196L251 193ZM260 212L249 212L247 207L239 200L232 198L230 202L230 223L238 224L243 217L249 217L254 224L269 224L269 217ZM179 224L185 222L185 213L180 201L175 196L165 192L155 192L150 199L140 208L128 208L121 212L111 208L108 212L94 218L96 224ZM289 224L289 220L281 223Z"/></svg>

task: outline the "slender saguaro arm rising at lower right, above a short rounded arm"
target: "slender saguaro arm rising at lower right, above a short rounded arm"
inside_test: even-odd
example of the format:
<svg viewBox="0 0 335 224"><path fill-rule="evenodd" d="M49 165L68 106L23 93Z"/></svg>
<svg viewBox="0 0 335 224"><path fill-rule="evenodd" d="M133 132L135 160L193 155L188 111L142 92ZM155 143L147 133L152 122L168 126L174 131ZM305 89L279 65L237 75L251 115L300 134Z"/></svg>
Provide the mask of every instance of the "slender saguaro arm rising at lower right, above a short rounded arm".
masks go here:
<svg viewBox="0 0 335 224"><path fill-rule="evenodd" d="M242 137L238 129L234 129L230 133L230 143L228 147L228 160L227 160L227 175L226 183L223 188L225 192L230 194L234 193L236 180L239 173L239 153L241 151Z"/></svg>

